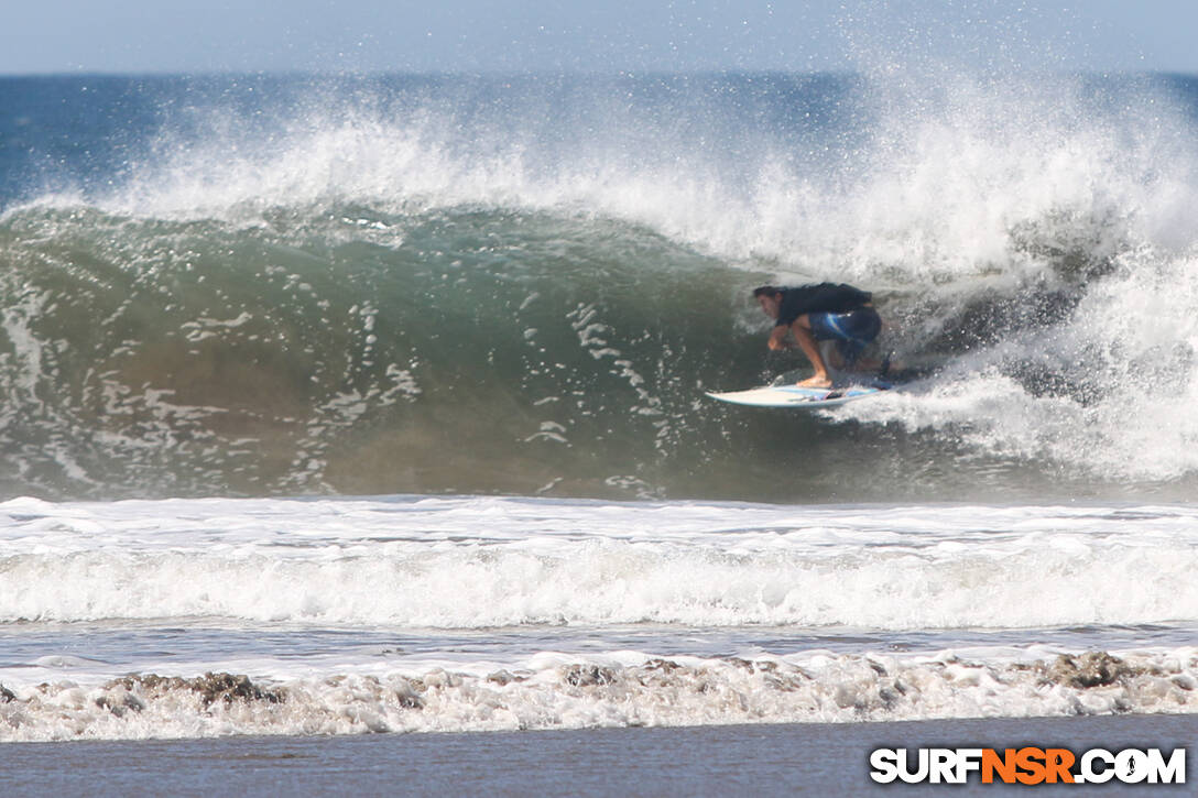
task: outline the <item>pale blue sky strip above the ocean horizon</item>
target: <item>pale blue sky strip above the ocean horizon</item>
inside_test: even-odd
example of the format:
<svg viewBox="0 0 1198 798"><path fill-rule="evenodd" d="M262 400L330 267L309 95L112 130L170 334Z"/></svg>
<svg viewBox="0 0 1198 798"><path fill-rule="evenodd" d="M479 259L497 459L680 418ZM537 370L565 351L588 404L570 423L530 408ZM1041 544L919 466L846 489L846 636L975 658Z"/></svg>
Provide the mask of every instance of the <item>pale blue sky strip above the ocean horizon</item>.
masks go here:
<svg viewBox="0 0 1198 798"><path fill-rule="evenodd" d="M863 71L1198 73L1193 0L38 0L0 74Z"/></svg>

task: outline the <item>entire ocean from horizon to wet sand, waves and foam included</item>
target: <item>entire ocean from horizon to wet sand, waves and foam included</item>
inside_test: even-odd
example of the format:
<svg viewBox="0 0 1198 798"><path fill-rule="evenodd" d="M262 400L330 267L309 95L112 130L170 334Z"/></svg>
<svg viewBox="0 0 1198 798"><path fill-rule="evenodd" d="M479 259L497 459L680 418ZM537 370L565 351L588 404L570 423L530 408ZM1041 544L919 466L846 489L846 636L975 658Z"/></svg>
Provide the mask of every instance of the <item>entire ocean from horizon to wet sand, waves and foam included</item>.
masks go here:
<svg viewBox="0 0 1198 798"><path fill-rule="evenodd" d="M0 740L1198 707L1198 80L0 79ZM718 405L766 283L897 391Z"/></svg>

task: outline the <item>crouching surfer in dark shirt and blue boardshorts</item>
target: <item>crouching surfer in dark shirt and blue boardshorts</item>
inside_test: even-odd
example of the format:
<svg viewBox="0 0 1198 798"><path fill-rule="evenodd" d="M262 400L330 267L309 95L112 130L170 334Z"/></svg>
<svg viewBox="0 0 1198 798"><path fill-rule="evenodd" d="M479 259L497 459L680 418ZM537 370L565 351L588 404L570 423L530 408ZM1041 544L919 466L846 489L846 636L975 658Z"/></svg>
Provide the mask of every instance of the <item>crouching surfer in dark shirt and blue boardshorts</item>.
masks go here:
<svg viewBox="0 0 1198 798"><path fill-rule="evenodd" d="M828 362L819 350L822 340L835 341L833 353L840 362L835 368L859 365L861 351L878 337L882 319L873 309L872 296L852 285L819 283L798 288L762 285L754 289L754 298L762 312L774 319L769 349L780 351L798 345L811 361L815 374L798 385L830 388ZM787 339L787 333L794 341Z"/></svg>

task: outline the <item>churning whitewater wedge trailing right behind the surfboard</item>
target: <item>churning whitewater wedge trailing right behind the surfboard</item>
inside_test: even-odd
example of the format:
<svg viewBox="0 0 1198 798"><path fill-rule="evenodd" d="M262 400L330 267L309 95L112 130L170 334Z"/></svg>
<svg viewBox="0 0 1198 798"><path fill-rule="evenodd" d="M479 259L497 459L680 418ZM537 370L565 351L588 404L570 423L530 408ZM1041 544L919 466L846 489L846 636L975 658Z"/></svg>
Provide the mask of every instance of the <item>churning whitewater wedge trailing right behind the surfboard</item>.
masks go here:
<svg viewBox="0 0 1198 798"><path fill-rule="evenodd" d="M934 379L840 418L951 435L973 451L1048 460L1079 473L1167 482L1198 471L1198 256L1143 250L1114 259L1077 312L963 356ZM1040 392L1011 376L1030 364L1075 380Z"/></svg>

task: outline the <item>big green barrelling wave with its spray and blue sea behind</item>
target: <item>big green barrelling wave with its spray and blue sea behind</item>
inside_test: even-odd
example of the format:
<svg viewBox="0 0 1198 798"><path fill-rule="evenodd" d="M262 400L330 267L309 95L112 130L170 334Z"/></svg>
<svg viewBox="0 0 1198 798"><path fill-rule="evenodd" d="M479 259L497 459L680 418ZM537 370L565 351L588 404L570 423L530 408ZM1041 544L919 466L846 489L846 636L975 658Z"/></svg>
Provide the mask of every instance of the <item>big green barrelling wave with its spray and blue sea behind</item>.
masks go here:
<svg viewBox="0 0 1198 798"><path fill-rule="evenodd" d="M0 488L1192 495L1196 90L6 80ZM916 379L707 401L801 365L749 290L822 279Z"/></svg>

